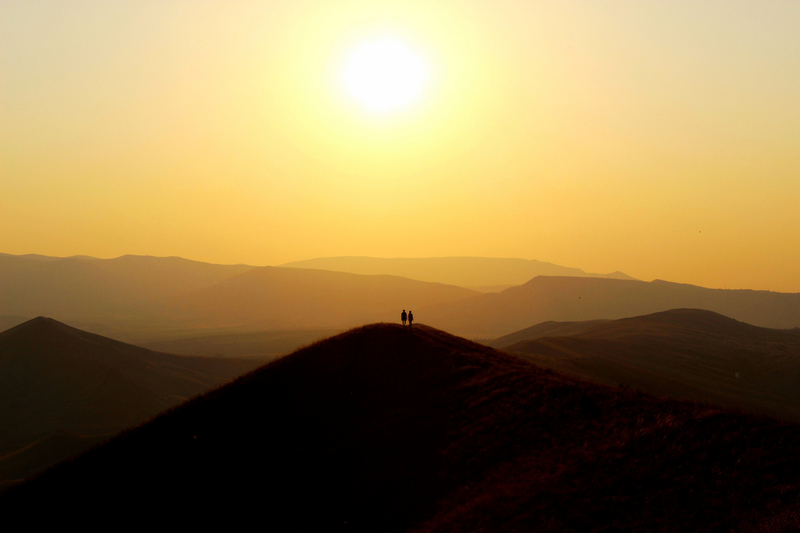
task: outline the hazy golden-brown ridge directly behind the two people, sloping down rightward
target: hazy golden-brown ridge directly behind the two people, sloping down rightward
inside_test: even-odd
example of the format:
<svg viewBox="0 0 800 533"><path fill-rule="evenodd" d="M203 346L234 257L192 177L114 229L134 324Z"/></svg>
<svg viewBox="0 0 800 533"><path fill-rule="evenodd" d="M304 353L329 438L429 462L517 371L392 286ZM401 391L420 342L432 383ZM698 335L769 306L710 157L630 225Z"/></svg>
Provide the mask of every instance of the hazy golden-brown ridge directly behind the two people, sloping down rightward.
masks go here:
<svg viewBox="0 0 800 533"><path fill-rule="evenodd" d="M475 295L399 276L262 266L178 300L175 312L190 322L252 329L353 327Z"/></svg>

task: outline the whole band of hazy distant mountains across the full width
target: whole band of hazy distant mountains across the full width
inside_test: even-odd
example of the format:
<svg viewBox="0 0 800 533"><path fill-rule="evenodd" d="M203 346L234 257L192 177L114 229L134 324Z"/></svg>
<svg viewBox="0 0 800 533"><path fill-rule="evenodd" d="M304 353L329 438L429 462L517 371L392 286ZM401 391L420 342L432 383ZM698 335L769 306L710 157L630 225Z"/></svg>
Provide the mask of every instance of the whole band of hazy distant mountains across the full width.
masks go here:
<svg viewBox="0 0 800 533"><path fill-rule="evenodd" d="M490 258L398 259L396 264L394 259L366 259L367 266L398 267L407 276L459 283L509 281L506 275L519 262L548 264ZM471 271L470 265L475 266ZM468 279L490 272L493 265L497 277ZM514 272L522 275L519 269ZM0 315L8 325L24 317L52 316L84 331L137 343L266 330L341 330L397 321L403 309L414 311L418 322L470 338L495 338L547 320L619 319L678 307L707 309L762 327L800 326L800 293L587 276L537 276L484 294L462 286L467 283L390 274L150 256L2 255Z"/></svg>

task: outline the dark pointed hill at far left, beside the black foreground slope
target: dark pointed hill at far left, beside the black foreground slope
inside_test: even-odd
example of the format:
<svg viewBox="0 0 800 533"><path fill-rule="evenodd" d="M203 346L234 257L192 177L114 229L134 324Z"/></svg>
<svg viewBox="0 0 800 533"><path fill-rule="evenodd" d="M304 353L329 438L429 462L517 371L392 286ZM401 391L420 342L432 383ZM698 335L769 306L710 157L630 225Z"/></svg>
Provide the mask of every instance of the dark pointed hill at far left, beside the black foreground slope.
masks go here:
<svg viewBox="0 0 800 533"><path fill-rule="evenodd" d="M38 317L0 333L0 480L225 383L259 359L183 357Z"/></svg>

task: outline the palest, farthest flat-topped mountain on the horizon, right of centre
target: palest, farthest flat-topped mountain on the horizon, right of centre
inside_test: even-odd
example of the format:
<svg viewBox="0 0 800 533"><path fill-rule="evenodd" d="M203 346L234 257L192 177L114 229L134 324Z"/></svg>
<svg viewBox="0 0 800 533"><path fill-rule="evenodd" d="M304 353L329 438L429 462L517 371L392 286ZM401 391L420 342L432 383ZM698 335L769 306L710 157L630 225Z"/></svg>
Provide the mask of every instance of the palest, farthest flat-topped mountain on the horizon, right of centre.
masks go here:
<svg viewBox="0 0 800 533"><path fill-rule="evenodd" d="M579 268L554 265L552 262L519 258L320 257L305 261L287 262L281 266L352 272L364 275L390 274L428 282L459 285L470 289L482 290L482 292L502 291L510 286L522 285L522 283L526 283L531 278L539 275L634 279L622 272L594 274L584 272Z"/></svg>

